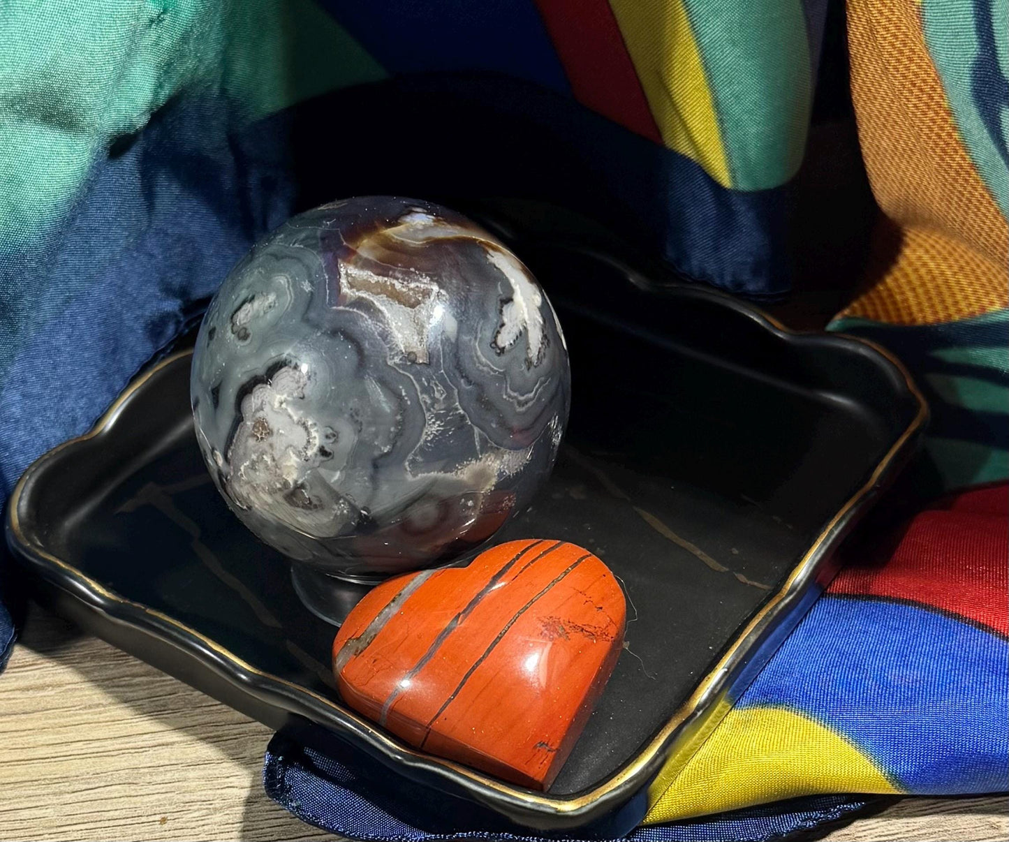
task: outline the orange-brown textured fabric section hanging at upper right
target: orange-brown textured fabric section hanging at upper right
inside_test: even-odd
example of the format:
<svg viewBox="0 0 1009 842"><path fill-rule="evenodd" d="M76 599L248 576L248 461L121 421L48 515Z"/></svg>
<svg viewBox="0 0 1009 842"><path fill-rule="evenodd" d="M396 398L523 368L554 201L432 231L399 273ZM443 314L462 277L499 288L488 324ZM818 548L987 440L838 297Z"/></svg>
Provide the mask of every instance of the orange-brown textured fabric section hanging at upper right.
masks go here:
<svg viewBox="0 0 1009 842"><path fill-rule="evenodd" d="M887 216L867 285L842 316L935 324L1009 306L1009 228L967 154L918 0L849 0L852 99Z"/></svg>

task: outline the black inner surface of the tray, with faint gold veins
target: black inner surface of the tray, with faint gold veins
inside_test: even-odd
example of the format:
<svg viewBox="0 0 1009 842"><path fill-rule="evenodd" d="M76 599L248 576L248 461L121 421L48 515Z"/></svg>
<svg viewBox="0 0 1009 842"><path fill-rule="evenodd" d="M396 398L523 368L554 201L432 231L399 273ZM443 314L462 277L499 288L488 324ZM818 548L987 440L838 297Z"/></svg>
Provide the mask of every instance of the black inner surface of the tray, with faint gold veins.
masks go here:
<svg viewBox="0 0 1009 842"><path fill-rule="evenodd" d="M857 343L783 336L717 296L643 290L587 258L533 267L567 336L571 419L549 483L493 539L582 545L629 600L627 648L550 791L565 797L604 781L670 720L915 405ZM114 424L60 454L25 520L106 588L335 699L335 629L219 498L188 379L189 357L174 360Z"/></svg>

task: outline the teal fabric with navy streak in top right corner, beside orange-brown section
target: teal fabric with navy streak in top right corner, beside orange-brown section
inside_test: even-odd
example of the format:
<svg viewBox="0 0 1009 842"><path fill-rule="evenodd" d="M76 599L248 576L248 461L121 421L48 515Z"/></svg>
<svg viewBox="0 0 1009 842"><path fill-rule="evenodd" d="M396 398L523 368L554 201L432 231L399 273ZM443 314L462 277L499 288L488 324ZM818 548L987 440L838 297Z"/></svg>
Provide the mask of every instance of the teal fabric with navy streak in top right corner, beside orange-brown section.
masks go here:
<svg viewBox="0 0 1009 842"><path fill-rule="evenodd" d="M1009 3L923 0L921 12L961 139L1009 219Z"/></svg>

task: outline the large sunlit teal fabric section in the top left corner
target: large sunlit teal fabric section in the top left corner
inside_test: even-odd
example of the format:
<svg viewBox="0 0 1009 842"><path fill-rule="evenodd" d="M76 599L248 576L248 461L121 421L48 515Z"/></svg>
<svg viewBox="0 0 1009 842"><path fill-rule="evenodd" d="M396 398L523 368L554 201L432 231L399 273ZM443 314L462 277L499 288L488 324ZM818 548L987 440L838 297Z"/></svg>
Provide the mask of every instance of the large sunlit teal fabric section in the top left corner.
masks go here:
<svg viewBox="0 0 1009 842"><path fill-rule="evenodd" d="M65 214L96 156L181 91L255 119L383 76L313 0L5 0L0 237Z"/></svg>

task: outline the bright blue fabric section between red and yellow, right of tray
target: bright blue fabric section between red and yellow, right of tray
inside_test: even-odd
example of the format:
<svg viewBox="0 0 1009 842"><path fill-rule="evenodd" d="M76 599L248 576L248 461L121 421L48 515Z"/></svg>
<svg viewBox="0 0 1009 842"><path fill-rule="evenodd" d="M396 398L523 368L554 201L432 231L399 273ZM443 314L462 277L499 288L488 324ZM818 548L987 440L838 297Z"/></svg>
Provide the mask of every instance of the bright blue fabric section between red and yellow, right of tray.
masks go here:
<svg viewBox="0 0 1009 842"><path fill-rule="evenodd" d="M1009 779L1009 642L917 606L823 597L739 706L812 717L916 795Z"/></svg>

